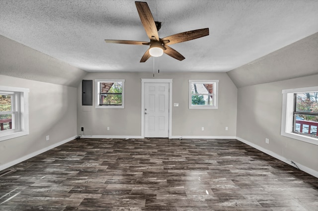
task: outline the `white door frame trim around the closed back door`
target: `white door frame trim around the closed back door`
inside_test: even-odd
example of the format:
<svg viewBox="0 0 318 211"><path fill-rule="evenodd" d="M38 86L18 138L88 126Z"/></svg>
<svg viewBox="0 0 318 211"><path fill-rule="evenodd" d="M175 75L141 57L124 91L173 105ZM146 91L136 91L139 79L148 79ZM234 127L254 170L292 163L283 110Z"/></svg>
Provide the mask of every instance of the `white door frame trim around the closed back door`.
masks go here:
<svg viewBox="0 0 318 211"><path fill-rule="evenodd" d="M172 79L141 79L141 137L145 138L145 83L169 83L169 139L172 137Z"/></svg>

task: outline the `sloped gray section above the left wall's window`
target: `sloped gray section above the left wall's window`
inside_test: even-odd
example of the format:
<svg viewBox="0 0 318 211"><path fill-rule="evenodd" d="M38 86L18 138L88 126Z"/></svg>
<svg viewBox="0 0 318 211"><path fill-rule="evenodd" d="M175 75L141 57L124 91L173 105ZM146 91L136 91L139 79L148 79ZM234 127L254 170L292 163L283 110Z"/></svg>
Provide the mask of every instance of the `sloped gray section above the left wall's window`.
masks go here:
<svg viewBox="0 0 318 211"><path fill-rule="evenodd" d="M86 71L0 36L0 75L77 87Z"/></svg>

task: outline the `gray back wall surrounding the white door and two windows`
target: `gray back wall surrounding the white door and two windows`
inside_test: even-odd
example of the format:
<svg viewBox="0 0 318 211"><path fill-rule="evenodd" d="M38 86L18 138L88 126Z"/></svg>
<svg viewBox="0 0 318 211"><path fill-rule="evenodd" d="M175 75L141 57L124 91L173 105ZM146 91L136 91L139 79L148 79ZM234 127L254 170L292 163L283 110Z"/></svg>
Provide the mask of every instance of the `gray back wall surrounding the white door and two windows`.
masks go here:
<svg viewBox="0 0 318 211"><path fill-rule="evenodd" d="M95 109L95 95L93 106L81 106L79 85L78 133L84 127L84 135L141 136L141 78L153 78L153 74L88 73L84 79L125 79L125 109ZM226 73L160 72L155 78L173 79L172 103L179 106L172 107L172 136L236 136L237 88ZM220 80L219 109L188 109L189 79Z"/></svg>

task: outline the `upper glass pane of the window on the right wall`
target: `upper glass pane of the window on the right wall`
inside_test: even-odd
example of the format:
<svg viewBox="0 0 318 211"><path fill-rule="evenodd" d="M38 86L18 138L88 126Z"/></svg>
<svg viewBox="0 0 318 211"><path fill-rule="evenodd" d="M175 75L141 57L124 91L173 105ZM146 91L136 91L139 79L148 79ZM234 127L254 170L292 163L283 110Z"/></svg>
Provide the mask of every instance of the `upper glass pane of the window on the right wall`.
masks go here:
<svg viewBox="0 0 318 211"><path fill-rule="evenodd" d="M318 113L318 92L297 93L296 111Z"/></svg>

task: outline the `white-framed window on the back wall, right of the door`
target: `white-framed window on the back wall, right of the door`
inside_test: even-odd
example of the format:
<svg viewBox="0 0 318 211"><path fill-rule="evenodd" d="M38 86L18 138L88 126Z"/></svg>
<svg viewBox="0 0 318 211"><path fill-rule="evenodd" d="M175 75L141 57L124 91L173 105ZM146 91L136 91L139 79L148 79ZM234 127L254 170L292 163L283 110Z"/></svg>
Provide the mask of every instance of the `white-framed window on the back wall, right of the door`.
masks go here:
<svg viewBox="0 0 318 211"><path fill-rule="evenodd" d="M219 80L189 80L189 109L217 109Z"/></svg>

